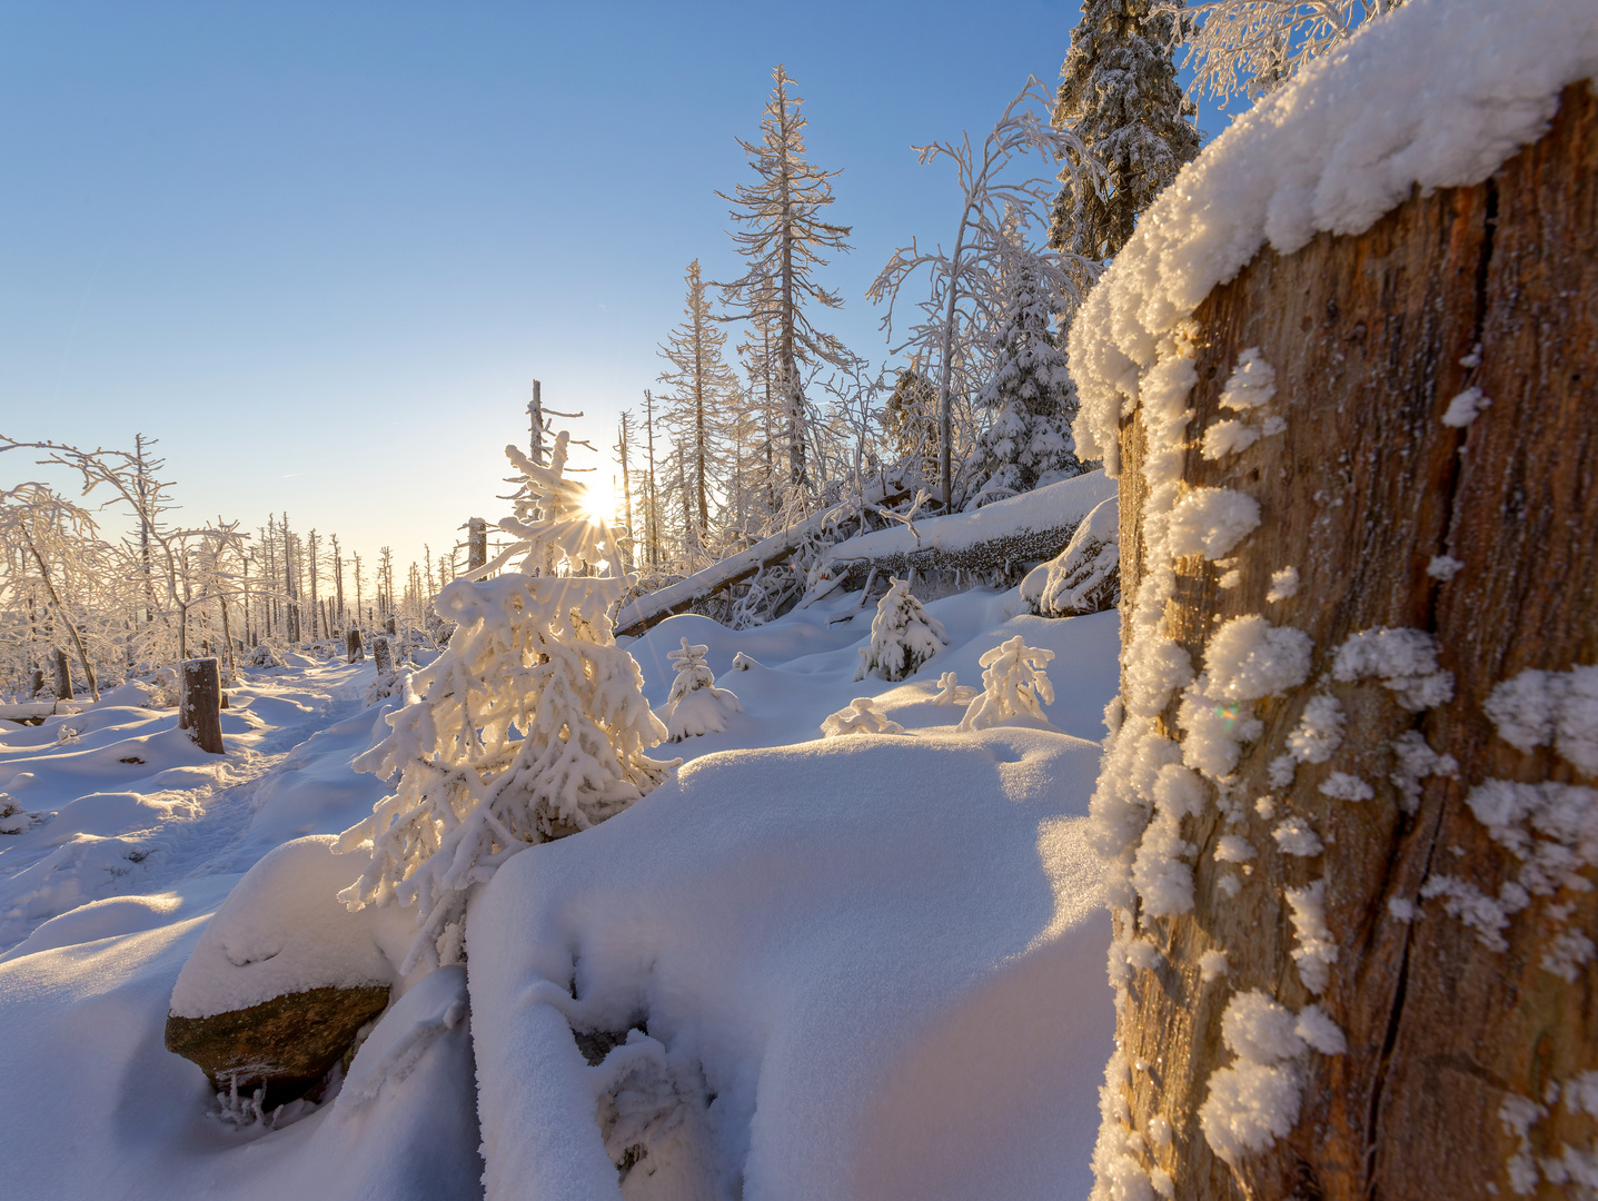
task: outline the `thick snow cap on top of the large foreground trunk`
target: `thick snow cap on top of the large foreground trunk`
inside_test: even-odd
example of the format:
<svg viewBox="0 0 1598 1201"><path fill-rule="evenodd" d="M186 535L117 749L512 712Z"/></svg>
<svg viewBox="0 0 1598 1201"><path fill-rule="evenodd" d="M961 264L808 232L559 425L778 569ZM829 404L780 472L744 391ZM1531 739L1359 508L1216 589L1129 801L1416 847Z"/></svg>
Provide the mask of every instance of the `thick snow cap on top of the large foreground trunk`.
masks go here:
<svg viewBox="0 0 1598 1201"><path fill-rule="evenodd" d="M1077 454L1120 474L1138 375L1262 246L1291 254L1369 228L1414 187L1481 182L1593 75L1590 0L1409 0L1306 67L1183 169L1088 294L1071 327Z"/></svg>

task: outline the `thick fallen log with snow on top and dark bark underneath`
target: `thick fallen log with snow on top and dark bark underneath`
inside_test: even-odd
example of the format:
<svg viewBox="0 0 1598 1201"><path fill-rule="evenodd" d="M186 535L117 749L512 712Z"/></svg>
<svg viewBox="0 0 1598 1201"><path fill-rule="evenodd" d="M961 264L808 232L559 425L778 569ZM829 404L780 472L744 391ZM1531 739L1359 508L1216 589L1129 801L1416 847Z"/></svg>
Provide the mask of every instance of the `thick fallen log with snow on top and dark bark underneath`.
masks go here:
<svg viewBox="0 0 1598 1201"><path fill-rule="evenodd" d="M860 586L880 573L1012 570L1053 559L1082 519L1115 495L1103 471L1063 479L975 513L927 517L909 525L873 530L833 546L812 575L812 596Z"/></svg>

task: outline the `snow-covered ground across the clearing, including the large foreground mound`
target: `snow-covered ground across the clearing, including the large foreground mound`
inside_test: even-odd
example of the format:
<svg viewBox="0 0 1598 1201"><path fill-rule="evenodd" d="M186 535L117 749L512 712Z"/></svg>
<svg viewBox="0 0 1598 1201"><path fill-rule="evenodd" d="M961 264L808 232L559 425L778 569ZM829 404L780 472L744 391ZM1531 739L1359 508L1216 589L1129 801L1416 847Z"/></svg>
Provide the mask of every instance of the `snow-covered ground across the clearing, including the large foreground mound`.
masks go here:
<svg viewBox="0 0 1598 1201"><path fill-rule="evenodd" d="M0 728L0 792L38 815L0 835L0 1196L452 1198L486 1166L495 1196L614 1198L606 1134L650 1147L630 1198L1083 1196L1114 1027L1083 826L1119 615L948 597L927 607L948 647L857 684L857 599L633 642L657 708L687 637L743 712L660 747L676 781L511 859L467 969L412 984L342 1091L278 1129L217 1118L163 1025L241 874L384 795L350 767L387 728L372 668L251 672L225 759L137 690ZM1056 655L1053 728L960 733L940 676L980 687L1015 634ZM857 696L904 733L821 739ZM598 1067L569 1032L630 1025Z"/></svg>

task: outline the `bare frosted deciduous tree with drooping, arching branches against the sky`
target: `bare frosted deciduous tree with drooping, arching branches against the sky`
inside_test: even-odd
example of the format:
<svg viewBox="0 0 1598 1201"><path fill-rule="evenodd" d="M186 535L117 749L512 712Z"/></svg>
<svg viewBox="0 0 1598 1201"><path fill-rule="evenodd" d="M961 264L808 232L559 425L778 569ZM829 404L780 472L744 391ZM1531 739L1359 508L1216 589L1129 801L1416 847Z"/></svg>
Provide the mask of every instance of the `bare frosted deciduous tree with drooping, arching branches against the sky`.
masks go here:
<svg viewBox="0 0 1598 1201"><path fill-rule="evenodd" d="M927 270L928 292L916 308L919 319L893 351L912 350L922 363L938 364L938 441L943 503L954 501L952 478L952 396L962 364L981 358L986 332L992 329L1008 295L1008 278L1016 249L1024 246L1028 230L1040 219L1042 208L1053 195L1047 177L1015 179L1005 171L1016 160L1037 153L1047 163L1063 161L1067 172L1082 172L1083 187L1095 185L1098 168L1087 157L1080 139L1069 129L1053 129L1039 112L1048 110L1042 85L1028 77L1026 86L1010 101L981 150L972 147L970 134L959 142L933 142L914 150L922 163L935 158L954 161L960 184L960 219L954 227L949 249L940 243L935 251L922 251L912 240L901 246L877 273L866 295L887 302L882 327L893 337L893 307L904 283ZM1079 279L1091 278L1093 264L1067 251L1037 256L1040 270L1055 276L1063 295L1075 295Z"/></svg>

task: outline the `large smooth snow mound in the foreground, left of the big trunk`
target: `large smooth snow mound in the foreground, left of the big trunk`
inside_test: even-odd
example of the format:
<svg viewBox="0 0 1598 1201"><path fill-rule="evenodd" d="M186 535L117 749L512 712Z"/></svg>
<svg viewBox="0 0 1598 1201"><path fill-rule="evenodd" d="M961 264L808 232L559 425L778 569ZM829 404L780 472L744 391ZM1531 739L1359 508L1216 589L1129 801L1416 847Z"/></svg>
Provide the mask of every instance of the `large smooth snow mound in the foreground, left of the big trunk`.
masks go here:
<svg viewBox="0 0 1598 1201"><path fill-rule="evenodd" d="M468 925L487 1196L617 1198L594 1097L646 1052L662 1105L702 1081L682 1196L1085 1195L1096 759L1020 728L729 751L507 862ZM660 1051L598 1067L570 1033L639 1025Z"/></svg>

